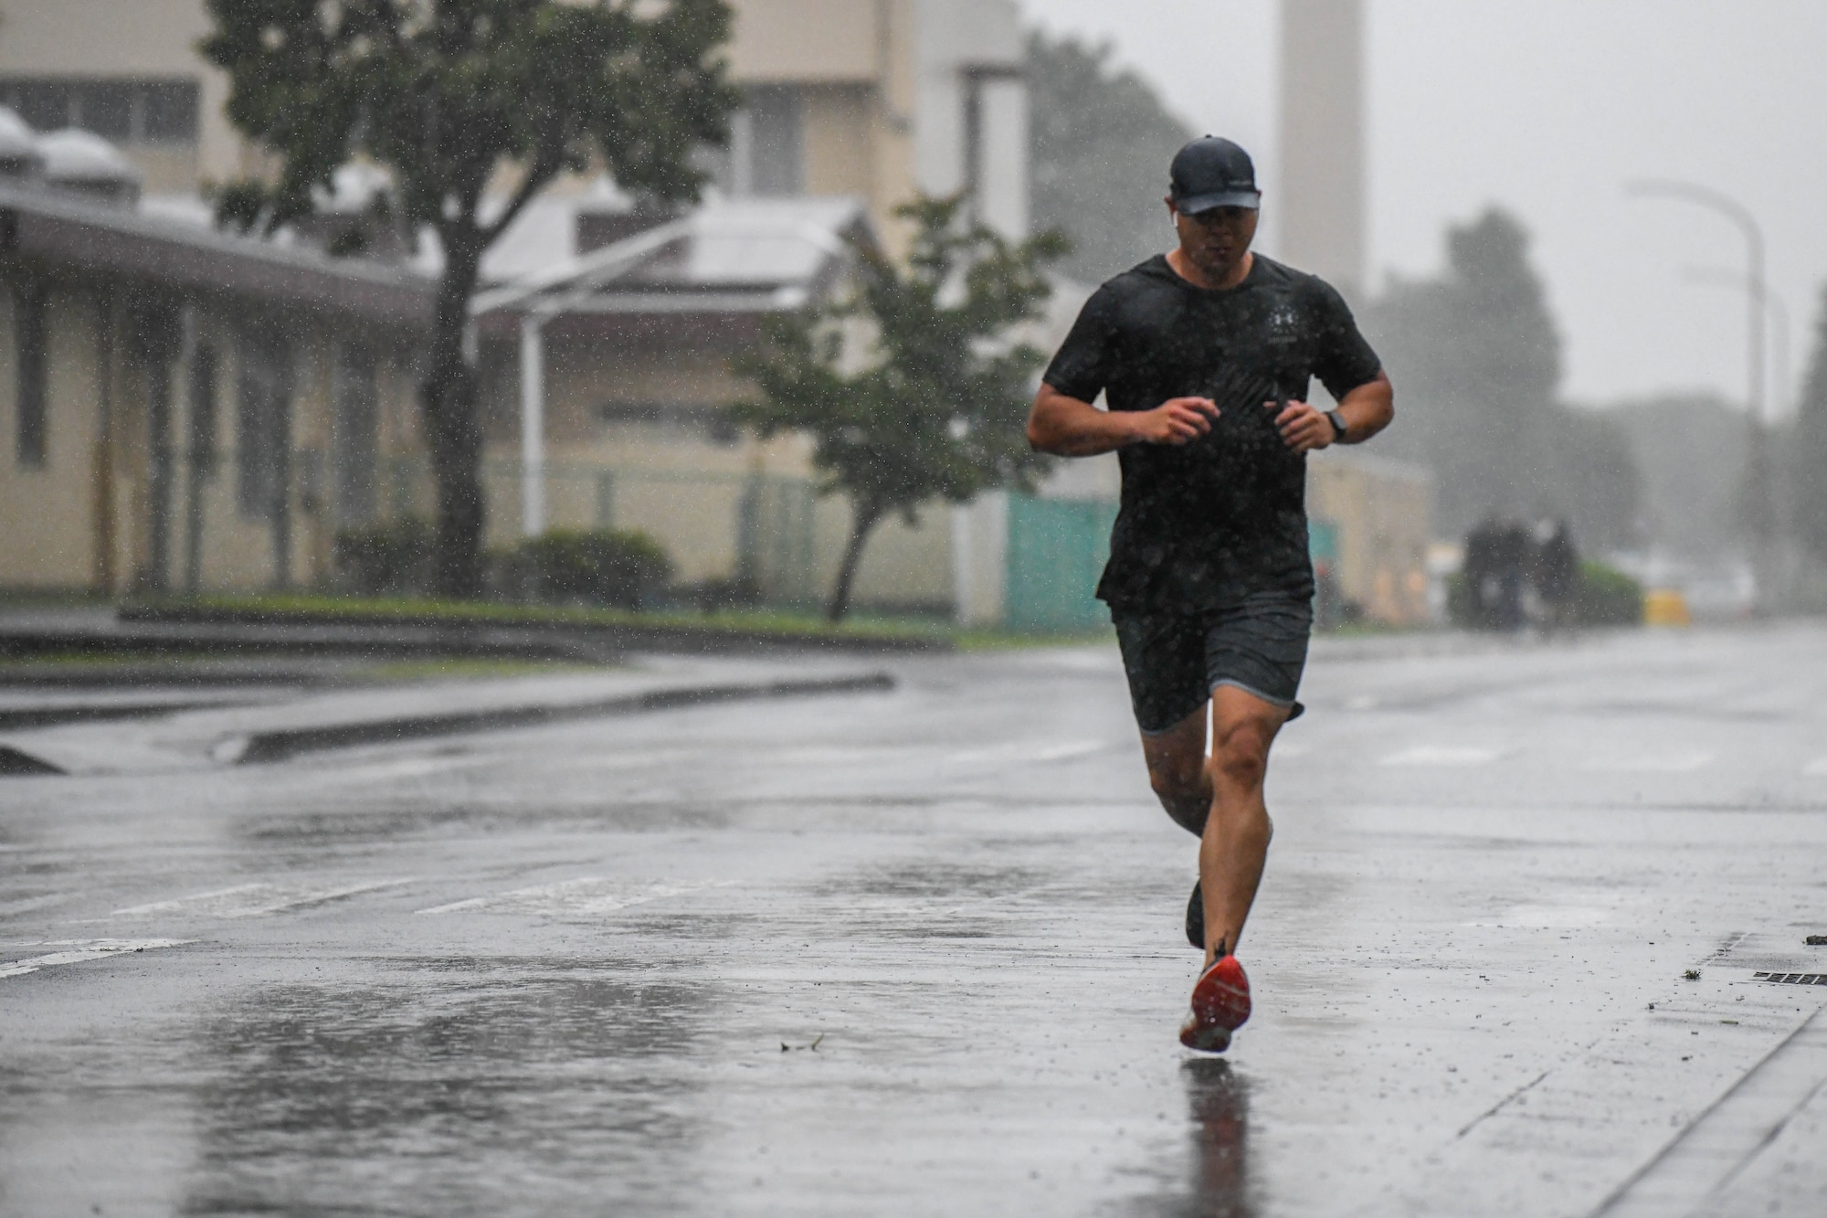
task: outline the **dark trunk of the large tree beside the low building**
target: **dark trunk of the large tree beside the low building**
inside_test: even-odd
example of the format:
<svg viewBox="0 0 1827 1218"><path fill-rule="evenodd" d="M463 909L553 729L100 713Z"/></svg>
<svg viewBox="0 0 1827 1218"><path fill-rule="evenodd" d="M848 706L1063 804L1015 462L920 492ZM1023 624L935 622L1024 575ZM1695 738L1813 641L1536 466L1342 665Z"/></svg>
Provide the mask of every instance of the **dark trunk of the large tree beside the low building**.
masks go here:
<svg viewBox="0 0 1827 1218"><path fill-rule="evenodd" d="M418 388L437 481L437 547L433 591L468 600L482 591L482 424L477 417L477 375L464 351L470 296L481 265L481 240L446 234L444 280L438 283L431 358Z"/></svg>

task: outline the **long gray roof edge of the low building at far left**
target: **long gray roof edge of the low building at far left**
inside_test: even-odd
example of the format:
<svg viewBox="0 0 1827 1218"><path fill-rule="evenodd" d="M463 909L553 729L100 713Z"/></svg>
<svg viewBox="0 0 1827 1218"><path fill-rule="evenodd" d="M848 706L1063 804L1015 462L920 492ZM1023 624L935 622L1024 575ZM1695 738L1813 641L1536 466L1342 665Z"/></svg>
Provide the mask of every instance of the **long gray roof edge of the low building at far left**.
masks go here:
<svg viewBox="0 0 1827 1218"><path fill-rule="evenodd" d="M0 258L214 291L371 322L431 322L435 282L398 265L331 258L51 188L0 183Z"/></svg>

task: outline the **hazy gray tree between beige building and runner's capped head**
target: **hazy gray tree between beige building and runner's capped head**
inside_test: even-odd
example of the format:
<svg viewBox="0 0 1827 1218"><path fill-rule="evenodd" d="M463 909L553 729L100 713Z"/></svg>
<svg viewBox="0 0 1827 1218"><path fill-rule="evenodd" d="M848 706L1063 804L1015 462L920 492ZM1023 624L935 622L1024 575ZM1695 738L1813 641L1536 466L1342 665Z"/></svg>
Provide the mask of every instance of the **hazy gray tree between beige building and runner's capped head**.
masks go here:
<svg viewBox="0 0 1827 1218"><path fill-rule="evenodd" d="M1193 135L1107 44L1029 35L1034 221L1072 241L1060 269L1100 283L1173 245L1167 163Z"/></svg>

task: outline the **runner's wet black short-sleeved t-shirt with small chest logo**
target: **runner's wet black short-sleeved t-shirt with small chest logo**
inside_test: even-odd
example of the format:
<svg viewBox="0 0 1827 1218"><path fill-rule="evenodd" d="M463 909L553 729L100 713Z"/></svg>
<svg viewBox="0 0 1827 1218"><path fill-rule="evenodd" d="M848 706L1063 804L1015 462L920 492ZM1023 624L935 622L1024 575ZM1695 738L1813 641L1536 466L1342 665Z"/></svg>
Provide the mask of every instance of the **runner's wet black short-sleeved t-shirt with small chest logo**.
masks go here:
<svg viewBox="0 0 1827 1218"><path fill-rule="evenodd" d="M1197 613L1251 593L1312 596L1306 457L1275 430L1268 401L1334 397L1376 379L1376 351L1323 280L1255 256L1242 283L1188 283L1162 256L1085 302L1045 380L1111 410L1209 397L1220 417L1182 446L1120 450L1122 508L1098 596L1122 609Z"/></svg>

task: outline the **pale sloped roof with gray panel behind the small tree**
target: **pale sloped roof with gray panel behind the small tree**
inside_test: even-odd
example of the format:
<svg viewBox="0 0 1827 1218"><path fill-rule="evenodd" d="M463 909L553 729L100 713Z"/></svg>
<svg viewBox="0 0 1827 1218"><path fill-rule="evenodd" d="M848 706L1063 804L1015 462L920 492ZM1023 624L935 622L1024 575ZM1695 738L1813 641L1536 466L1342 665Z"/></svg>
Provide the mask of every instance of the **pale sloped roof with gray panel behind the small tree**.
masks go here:
<svg viewBox="0 0 1827 1218"><path fill-rule="evenodd" d="M546 225L557 223L550 208ZM576 208L565 218L576 225ZM515 236L510 232L510 238ZM755 315L797 309L826 291L873 241L868 210L851 198L723 199L603 249L552 260L546 240L523 236L519 249L541 251L481 293L473 311L486 322L541 313L579 315ZM515 245L504 238L512 251Z"/></svg>

